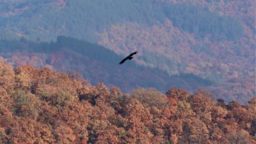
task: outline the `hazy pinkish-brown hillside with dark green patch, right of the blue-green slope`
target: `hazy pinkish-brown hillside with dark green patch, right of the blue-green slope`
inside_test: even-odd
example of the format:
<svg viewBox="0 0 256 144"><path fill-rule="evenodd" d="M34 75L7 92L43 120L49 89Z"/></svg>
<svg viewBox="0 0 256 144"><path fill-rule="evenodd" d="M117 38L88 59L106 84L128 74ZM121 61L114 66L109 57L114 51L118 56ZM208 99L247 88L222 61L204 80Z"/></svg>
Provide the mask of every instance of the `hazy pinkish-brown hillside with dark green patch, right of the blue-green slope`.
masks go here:
<svg viewBox="0 0 256 144"><path fill-rule="evenodd" d="M193 73L207 89L241 101L255 95L255 1L158 1L163 23L113 24L99 43L118 54L138 50L140 65ZM163 4L163 5L162 5Z"/></svg>

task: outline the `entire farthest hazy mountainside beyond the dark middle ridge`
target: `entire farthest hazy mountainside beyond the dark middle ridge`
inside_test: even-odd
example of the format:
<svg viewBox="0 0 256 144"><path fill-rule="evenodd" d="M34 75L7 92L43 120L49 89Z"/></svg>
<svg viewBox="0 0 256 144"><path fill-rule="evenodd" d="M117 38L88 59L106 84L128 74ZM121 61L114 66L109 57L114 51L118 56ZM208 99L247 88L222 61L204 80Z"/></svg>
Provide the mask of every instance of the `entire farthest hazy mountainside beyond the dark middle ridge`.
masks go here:
<svg viewBox="0 0 256 144"><path fill-rule="evenodd" d="M136 49L143 52L135 59L138 65L170 76L193 73L214 82L209 89L217 95L247 100L256 93L255 6L246 0L0 1L0 39L51 41L65 35L120 55ZM25 54L12 61L23 57L44 66L49 60Z"/></svg>

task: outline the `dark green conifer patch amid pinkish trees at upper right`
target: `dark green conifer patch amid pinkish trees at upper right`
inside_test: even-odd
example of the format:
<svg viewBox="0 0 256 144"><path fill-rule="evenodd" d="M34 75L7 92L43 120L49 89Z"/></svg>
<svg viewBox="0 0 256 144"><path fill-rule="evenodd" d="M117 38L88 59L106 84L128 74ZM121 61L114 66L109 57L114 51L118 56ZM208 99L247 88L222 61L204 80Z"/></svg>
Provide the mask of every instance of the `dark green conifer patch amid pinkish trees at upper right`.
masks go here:
<svg viewBox="0 0 256 144"><path fill-rule="evenodd" d="M243 35L243 26L239 20L219 16L207 8L188 4L174 4L164 10L173 25L184 31L205 38L211 35L212 40L237 40Z"/></svg>

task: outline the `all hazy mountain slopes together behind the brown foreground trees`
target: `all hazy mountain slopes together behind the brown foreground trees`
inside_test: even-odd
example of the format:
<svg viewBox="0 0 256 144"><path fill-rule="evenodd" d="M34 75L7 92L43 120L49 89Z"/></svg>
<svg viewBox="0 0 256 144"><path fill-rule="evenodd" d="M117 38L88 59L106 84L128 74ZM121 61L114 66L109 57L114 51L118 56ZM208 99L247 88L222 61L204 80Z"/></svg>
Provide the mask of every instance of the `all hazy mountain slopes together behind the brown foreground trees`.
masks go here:
<svg viewBox="0 0 256 144"><path fill-rule="evenodd" d="M127 91L204 87L246 103L255 95L254 22L255 1L1 1L0 56L14 66L77 70ZM71 38L59 37L60 46L60 35ZM84 47L98 50L88 55ZM135 63L115 68L135 50Z"/></svg>

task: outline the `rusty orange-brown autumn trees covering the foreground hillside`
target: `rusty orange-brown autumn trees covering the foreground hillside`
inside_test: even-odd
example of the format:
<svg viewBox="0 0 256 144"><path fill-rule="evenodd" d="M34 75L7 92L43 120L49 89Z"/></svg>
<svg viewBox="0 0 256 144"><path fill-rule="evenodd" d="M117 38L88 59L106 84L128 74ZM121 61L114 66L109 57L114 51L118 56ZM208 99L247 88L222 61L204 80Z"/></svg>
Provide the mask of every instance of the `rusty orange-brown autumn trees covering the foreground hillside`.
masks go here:
<svg viewBox="0 0 256 144"><path fill-rule="evenodd" d="M0 62L0 143L255 143L256 97L214 102L199 89L123 94L81 74Z"/></svg>

